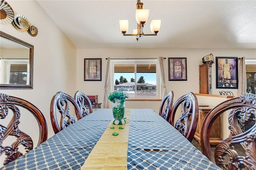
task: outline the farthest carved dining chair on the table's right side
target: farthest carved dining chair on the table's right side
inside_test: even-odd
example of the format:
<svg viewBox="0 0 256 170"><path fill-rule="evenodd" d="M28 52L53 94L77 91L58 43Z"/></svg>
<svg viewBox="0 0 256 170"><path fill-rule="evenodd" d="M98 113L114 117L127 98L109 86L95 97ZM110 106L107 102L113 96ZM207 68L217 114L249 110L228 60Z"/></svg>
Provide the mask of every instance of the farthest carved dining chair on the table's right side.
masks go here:
<svg viewBox="0 0 256 170"><path fill-rule="evenodd" d="M170 115L171 115L173 96L174 96L173 91L170 91L169 93L167 93L164 96L159 109L159 115L162 116L167 121L169 121Z"/></svg>

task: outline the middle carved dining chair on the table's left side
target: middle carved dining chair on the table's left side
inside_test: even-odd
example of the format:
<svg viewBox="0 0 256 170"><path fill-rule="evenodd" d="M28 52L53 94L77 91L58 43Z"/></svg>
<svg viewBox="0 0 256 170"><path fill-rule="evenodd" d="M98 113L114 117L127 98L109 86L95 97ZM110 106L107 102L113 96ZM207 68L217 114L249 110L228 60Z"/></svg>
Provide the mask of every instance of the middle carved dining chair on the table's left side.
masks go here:
<svg viewBox="0 0 256 170"><path fill-rule="evenodd" d="M64 92L57 92L53 97L50 105L50 116L54 133L58 133L65 127L76 122L75 118L70 113L70 103L74 106L76 119L82 118L79 105L76 100ZM57 108L60 113L60 122L58 122Z"/></svg>

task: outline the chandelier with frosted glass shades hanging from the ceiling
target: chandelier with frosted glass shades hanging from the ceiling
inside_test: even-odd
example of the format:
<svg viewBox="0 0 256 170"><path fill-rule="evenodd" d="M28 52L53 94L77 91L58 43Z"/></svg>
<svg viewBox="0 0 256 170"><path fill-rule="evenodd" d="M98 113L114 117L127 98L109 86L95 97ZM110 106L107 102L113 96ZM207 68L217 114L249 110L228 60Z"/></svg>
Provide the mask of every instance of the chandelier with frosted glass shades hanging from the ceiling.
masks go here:
<svg viewBox="0 0 256 170"><path fill-rule="evenodd" d="M157 35L160 26L161 20L152 20L150 23L150 30L152 34L144 34L143 28L148 20L149 10L142 9L143 3L140 0L137 0L137 9L136 9L136 21L137 21L137 29L132 30L132 34L126 34L128 30L128 20L119 20L120 30L124 36L134 36L137 42L143 36Z"/></svg>

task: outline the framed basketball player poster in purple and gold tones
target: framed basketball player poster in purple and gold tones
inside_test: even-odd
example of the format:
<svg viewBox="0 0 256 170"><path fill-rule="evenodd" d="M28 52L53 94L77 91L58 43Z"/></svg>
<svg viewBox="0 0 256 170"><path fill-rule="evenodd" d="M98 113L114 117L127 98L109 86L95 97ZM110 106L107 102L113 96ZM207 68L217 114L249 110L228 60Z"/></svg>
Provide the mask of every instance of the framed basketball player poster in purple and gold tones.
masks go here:
<svg viewBox="0 0 256 170"><path fill-rule="evenodd" d="M238 57L216 57L216 88L238 88Z"/></svg>

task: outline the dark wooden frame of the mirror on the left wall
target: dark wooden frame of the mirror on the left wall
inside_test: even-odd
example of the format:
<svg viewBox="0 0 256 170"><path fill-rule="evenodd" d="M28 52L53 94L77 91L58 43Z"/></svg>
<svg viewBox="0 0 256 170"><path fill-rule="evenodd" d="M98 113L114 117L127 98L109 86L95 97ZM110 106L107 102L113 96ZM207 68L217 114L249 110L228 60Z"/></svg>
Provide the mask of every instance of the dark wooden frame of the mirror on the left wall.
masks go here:
<svg viewBox="0 0 256 170"><path fill-rule="evenodd" d="M29 48L29 69L30 69L30 76L29 76L29 84L0 84L0 89L33 89L33 58L34 58L34 45L31 45L29 43L26 43L25 41L22 41L16 37L13 37L12 35L9 35L7 33L4 33L0 31L0 37L8 39L10 41L13 41L14 43L18 43L20 45L23 45L25 47Z"/></svg>

